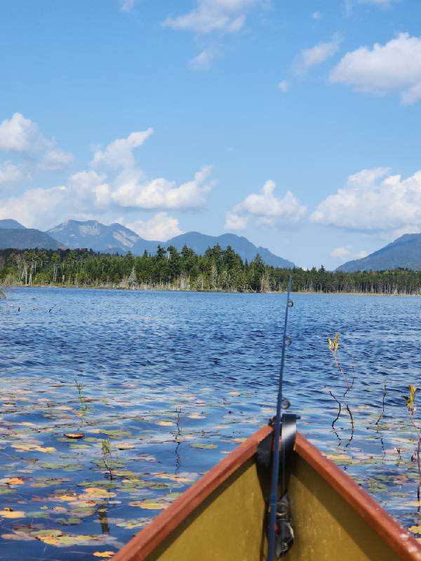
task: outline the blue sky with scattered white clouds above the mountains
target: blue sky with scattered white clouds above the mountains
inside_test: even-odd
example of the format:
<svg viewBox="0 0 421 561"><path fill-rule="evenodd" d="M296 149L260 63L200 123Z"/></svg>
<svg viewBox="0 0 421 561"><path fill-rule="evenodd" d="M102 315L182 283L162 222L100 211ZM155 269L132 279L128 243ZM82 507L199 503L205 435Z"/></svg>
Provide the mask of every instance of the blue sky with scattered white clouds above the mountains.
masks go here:
<svg viewBox="0 0 421 561"><path fill-rule="evenodd" d="M246 236L334 268L421 231L418 0L0 7L0 218Z"/></svg>

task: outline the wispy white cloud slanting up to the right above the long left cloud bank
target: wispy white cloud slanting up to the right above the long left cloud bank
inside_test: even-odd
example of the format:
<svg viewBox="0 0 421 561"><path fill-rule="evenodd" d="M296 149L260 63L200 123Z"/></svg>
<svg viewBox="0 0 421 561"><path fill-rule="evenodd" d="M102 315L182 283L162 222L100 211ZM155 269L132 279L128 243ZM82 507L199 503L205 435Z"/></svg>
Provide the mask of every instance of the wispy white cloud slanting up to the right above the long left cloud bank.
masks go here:
<svg viewBox="0 0 421 561"><path fill-rule="evenodd" d="M149 127L147 130L131 133L126 138L117 138L110 142L105 150L95 151L91 164L108 168L134 168L133 150L142 146L153 133L154 129Z"/></svg>

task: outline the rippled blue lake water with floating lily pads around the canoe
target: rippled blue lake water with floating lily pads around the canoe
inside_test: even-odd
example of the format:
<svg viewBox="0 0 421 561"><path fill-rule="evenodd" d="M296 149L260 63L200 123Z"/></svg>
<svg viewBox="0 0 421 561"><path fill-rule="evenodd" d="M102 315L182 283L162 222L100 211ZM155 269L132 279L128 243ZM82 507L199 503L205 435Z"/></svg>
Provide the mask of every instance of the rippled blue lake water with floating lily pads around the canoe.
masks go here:
<svg viewBox="0 0 421 561"><path fill-rule="evenodd" d="M299 429L404 526L420 524L408 384L420 298L293 295ZM15 289L0 300L1 560L115 552L272 416L285 295ZM326 338L340 333L345 391ZM385 415L383 384L387 381ZM84 438L66 438L83 433ZM352 436L352 440L350 437Z"/></svg>

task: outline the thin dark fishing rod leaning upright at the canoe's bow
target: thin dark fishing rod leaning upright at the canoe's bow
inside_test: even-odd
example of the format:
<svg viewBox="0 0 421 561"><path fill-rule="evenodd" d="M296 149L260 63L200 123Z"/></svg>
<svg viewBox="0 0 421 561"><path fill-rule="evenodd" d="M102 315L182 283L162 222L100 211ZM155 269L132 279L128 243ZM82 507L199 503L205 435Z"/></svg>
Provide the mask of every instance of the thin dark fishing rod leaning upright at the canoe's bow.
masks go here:
<svg viewBox="0 0 421 561"><path fill-rule="evenodd" d="M290 344L290 339L286 334L288 326L288 310L293 307L293 301L290 299L291 291L291 276L288 278L287 298L285 307L285 319L283 323L283 339L282 339L282 354L281 354L281 370L279 372L279 385L278 385L278 398L276 401L276 417L274 419L274 450L272 457L272 479L270 488L269 499L269 535L267 544L267 561L274 561L276 553L276 509L278 503L279 491L279 438L281 437L281 424L282 424L282 402L283 402L283 365L285 363L286 347ZM283 447L282 460L285 464L285 447ZM285 465L282 466L282 477L285 478ZM284 491L285 484L283 483L282 489Z"/></svg>

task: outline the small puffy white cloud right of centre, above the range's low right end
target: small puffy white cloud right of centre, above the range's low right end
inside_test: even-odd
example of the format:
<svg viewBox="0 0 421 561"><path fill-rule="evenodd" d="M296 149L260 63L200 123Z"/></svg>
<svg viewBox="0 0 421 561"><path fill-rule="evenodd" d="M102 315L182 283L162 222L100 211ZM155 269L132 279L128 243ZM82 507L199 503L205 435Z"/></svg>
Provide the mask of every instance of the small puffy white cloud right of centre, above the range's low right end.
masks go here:
<svg viewBox="0 0 421 561"><path fill-rule="evenodd" d="M269 180L261 191L248 195L241 203L234 205L227 215L225 228L233 229L234 226L234 229L243 229L250 218L256 219L258 224L263 226L298 224L305 216L307 208L291 191L286 191L283 197L277 197L275 189L276 183Z"/></svg>

